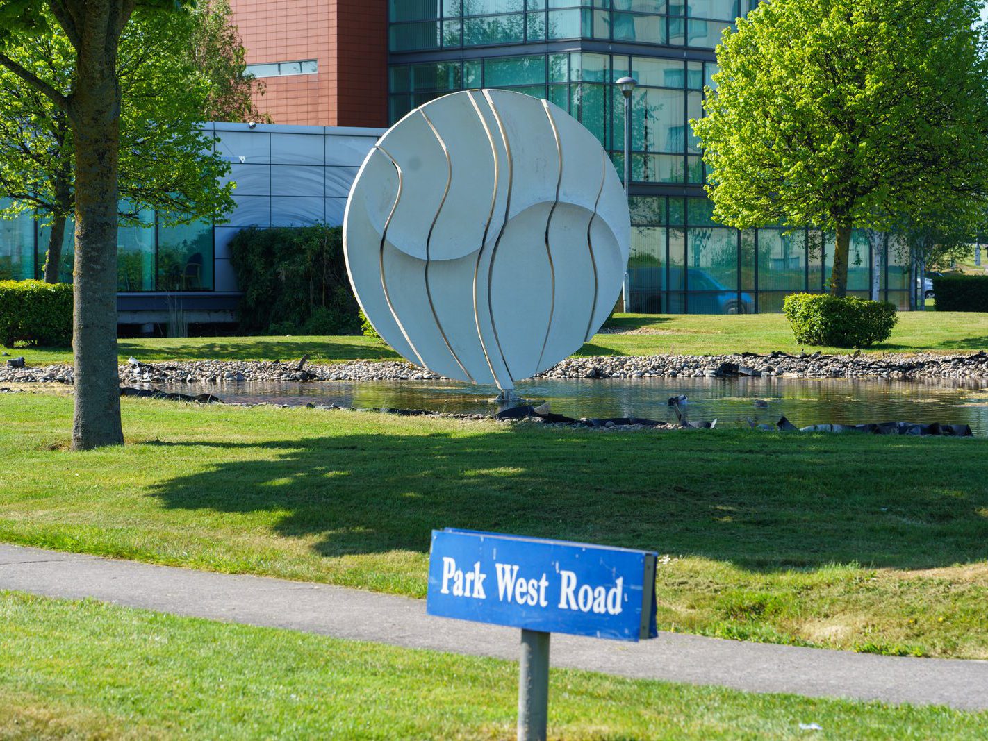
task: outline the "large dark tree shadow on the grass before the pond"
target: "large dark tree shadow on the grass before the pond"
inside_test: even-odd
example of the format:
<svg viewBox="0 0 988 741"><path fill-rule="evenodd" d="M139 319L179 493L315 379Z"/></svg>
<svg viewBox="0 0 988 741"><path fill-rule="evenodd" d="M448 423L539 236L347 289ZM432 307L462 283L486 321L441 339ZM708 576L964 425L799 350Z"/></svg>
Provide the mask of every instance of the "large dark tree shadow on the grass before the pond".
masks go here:
<svg viewBox="0 0 988 741"><path fill-rule="evenodd" d="M276 512L277 535L314 535L327 556L426 552L433 529L455 526L767 571L929 568L988 556L986 447L967 442L516 429L176 443L218 449L204 452L216 462L154 494Z"/></svg>

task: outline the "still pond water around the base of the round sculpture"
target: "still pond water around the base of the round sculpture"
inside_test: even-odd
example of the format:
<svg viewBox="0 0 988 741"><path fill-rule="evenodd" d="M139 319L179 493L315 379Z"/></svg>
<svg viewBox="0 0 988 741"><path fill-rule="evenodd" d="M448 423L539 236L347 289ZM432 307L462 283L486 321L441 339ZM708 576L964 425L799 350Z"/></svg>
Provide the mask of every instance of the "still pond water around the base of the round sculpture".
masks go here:
<svg viewBox="0 0 988 741"><path fill-rule="evenodd" d="M493 386L453 381L316 381L225 383L221 386L174 384L168 390L214 393L227 402L303 405L335 403L358 408L427 409L491 414ZM816 424L858 425L905 421L968 424L988 436L988 379L937 383L844 378L635 378L559 380L519 383L526 399L548 401L552 411L570 417L645 417L673 422L670 396L686 394L694 421L723 426L775 424L784 415L798 427ZM755 405L756 400L768 406Z"/></svg>

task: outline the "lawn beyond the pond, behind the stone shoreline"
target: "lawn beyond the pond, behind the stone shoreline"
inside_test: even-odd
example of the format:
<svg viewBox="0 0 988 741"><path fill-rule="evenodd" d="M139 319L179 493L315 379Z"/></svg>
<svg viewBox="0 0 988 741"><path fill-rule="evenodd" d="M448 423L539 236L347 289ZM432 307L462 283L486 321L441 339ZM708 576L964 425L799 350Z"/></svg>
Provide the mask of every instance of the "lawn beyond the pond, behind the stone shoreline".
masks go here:
<svg viewBox="0 0 988 741"><path fill-rule="evenodd" d="M612 323L635 334L599 334L577 355L718 355L798 352L782 314L708 316L702 314L617 314ZM988 349L988 314L943 311L900 312L892 337L868 352L937 352ZM814 348L849 353L838 348ZM8 352L15 352L8 349ZM397 360L398 355L367 337L196 337L120 341L121 362L179 360L283 360L310 354L314 363L355 359ZM67 348L17 348L28 363L70 363Z"/></svg>

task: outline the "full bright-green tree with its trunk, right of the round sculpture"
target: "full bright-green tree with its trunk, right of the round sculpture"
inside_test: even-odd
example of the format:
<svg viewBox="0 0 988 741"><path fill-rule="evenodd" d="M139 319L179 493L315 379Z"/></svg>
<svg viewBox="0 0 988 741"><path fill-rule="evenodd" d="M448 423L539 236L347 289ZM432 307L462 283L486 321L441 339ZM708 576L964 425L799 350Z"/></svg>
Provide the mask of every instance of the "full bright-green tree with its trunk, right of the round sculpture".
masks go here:
<svg viewBox="0 0 988 741"><path fill-rule="evenodd" d="M884 230L988 194L988 62L977 0L773 0L717 47L693 122L718 220L836 233L847 290L855 227Z"/></svg>

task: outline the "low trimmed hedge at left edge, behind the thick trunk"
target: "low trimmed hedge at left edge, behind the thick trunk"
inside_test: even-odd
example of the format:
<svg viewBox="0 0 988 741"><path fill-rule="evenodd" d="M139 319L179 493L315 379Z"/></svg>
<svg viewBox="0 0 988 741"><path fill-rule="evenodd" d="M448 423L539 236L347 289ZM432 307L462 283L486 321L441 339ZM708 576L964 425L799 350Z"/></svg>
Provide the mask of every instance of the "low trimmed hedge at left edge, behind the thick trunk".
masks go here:
<svg viewBox="0 0 988 741"><path fill-rule="evenodd" d="M72 341L72 287L67 283L0 281L0 342L68 345Z"/></svg>

